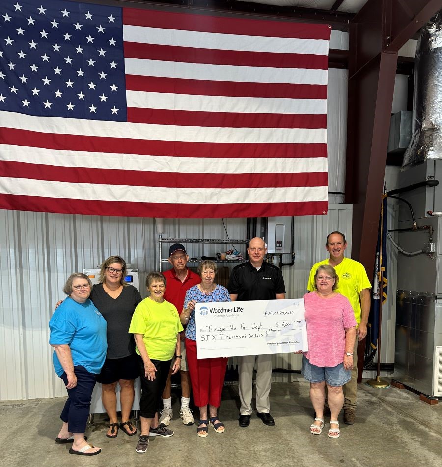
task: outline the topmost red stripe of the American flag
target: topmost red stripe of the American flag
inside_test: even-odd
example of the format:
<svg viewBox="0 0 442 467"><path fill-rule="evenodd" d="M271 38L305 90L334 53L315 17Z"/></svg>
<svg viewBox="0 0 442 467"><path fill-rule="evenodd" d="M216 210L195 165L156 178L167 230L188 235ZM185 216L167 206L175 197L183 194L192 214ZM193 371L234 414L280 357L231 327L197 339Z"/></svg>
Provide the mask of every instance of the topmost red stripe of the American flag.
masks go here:
<svg viewBox="0 0 442 467"><path fill-rule="evenodd" d="M330 30L324 25L282 21L244 21L221 16L189 15L166 11L142 11L123 9L125 25L146 26L161 29L176 29L223 34L240 34L264 37L293 37L298 39L323 39L328 41Z"/></svg>

